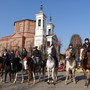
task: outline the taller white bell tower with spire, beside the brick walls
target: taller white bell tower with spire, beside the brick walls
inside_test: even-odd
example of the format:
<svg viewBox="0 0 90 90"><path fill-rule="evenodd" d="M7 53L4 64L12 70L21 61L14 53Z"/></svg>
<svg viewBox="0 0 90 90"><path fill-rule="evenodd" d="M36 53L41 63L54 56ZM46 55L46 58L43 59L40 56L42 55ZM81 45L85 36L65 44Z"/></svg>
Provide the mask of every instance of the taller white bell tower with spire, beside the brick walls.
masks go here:
<svg viewBox="0 0 90 90"><path fill-rule="evenodd" d="M40 5L40 11L36 14L36 29L34 45L40 47L46 44L46 15L43 13L43 5Z"/></svg>

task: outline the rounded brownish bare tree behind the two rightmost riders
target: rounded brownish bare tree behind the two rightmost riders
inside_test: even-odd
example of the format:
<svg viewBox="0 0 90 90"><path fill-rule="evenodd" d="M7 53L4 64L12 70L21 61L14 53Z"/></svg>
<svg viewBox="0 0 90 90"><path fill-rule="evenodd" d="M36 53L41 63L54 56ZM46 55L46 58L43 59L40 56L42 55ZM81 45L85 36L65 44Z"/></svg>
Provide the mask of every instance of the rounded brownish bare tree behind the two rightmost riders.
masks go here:
<svg viewBox="0 0 90 90"><path fill-rule="evenodd" d="M75 48L76 51L76 58L79 58L80 53L80 46L82 45L82 39L79 34L74 34L71 37L70 44L73 45L73 48Z"/></svg>

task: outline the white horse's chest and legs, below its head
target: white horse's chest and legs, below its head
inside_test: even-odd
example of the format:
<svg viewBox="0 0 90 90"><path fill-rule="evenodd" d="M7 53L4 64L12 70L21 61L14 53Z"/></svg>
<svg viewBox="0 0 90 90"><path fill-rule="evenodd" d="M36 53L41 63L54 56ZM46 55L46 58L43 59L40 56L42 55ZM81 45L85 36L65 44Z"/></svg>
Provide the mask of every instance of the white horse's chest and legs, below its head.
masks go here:
<svg viewBox="0 0 90 90"><path fill-rule="evenodd" d="M47 62L46 62L47 72L48 72L48 83L50 83L50 72L52 77L52 83L54 83L55 80L57 80L57 69L55 68L55 60L51 55L48 56Z"/></svg>

